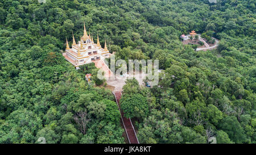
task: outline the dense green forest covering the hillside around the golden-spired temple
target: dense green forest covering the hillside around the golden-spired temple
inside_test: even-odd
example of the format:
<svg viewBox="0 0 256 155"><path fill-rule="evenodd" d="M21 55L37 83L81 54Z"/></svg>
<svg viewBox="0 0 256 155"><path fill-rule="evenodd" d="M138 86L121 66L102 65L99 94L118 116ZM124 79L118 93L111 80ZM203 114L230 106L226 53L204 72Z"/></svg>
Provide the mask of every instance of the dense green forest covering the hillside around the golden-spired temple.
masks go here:
<svg viewBox="0 0 256 155"><path fill-rule="evenodd" d="M256 143L254 0L39 2L0 1L0 143L125 143L112 92L84 78L97 69L61 55L84 21L117 58L164 70L159 86L123 87L140 143ZM179 39L191 30L220 45L196 52Z"/></svg>

